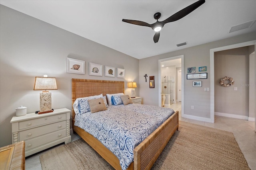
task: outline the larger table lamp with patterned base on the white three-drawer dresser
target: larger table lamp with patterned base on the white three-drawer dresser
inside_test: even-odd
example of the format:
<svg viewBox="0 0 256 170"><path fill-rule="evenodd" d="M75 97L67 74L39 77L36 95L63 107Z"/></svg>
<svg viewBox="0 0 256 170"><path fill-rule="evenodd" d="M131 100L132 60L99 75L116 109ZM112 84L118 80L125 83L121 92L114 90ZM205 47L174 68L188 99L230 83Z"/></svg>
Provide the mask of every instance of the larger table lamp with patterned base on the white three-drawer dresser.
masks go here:
<svg viewBox="0 0 256 170"><path fill-rule="evenodd" d="M44 90L40 92L40 111L38 114L52 112L52 93L46 90L57 90L56 78L36 77L34 90Z"/></svg>

